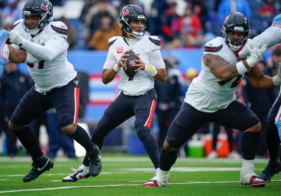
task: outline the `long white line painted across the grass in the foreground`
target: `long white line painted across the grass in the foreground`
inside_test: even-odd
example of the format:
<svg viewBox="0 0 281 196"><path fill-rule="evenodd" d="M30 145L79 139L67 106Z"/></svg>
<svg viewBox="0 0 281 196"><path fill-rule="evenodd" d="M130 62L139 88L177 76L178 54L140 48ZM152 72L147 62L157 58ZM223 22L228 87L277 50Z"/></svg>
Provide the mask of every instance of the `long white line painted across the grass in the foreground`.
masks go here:
<svg viewBox="0 0 281 196"><path fill-rule="evenodd" d="M271 181L281 181L281 180L271 180ZM169 184L205 184L205 183L240 183L240 181L186 182L186 183L169 183ZM23 192L23 191L44 191L44 190L55 190L55 189L69 189L69 188L106 187L106 186L143 186L143 185L142 184L115 184L115 185L95 185L95 186L63 186L63 187L55 187L55 188L0 191L0 193L12 193L12 192Z"/></svg>

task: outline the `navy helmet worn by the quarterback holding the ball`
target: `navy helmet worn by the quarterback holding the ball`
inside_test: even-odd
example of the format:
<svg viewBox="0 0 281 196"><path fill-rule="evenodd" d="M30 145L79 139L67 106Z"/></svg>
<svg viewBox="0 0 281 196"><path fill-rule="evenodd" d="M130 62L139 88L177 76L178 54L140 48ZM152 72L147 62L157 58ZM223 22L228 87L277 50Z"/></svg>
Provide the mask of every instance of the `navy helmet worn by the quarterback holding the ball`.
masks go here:
<svg viewBox="0 0 281 196"><path fill-rule="evenodd" d="M130 25L130 22L132 20L143 20L144 23L144 27L142 28L141 32L135 32L133 30L132 27ZM144 11L142 10L142 8L140 8L140 6L137 5L127 5L124 6L123 9L120 12L120 16L119 16L119 22L120 22L120 26L121 28L129 35L133 35L134 37L141 37L144 36L144 33L146 31L146 21L147 18L145 17ZM141 29L141 28L139 28Z"/></svg>

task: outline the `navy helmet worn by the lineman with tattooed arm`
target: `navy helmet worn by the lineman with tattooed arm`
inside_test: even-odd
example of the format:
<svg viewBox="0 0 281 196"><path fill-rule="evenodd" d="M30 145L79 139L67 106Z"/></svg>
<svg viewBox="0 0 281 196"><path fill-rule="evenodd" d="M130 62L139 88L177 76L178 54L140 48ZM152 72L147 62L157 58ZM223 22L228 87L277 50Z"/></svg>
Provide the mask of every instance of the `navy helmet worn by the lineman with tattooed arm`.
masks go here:
<svg viewBox="0 0 281 196"><path fill-rule="evenodd" d="M228 32L244 32L244 39L241 42L241 45L233 45L229 39ZM223 38L225 39L225 43L229 46L233 51L237 51L241 49L247 42L248 37L250 35L250 22L244 14L240 12L232 12L229 14L225 20L223 21ZM241 40L239 40L241 41Z"/></svg>

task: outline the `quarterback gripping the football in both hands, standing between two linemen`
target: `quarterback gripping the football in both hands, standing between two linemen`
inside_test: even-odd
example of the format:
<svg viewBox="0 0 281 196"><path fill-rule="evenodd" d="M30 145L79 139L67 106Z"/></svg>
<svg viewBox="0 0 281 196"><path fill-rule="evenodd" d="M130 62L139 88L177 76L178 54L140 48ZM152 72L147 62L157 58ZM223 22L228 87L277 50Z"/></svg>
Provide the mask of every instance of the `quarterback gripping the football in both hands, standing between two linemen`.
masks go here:
<svg viewBox="0 0 281 196"><path fill-rule="evenodd" d="M101 149L104 138L110 131L135 116L137 136L142 141L157 174L159 150L150 132L158 97L154 89L154 79L164 82L167 79L167 72L160 53L160 39L157 36L144 35L146 21L144 11L137 5L126 5L120 11L122 36L115 36L108 40L109 51L101 75L102 82L108 84L120 71L121 79L118 84L120 93L99 120L92 135L92 142ZM121 68L124 66L123 61L127 61L124 57L129 56L126 54L129 50L133 50L138 58L133 62L139 63L133 65L138 67L133 78L129 78ZM89 177L87 154L78 169L71 169L73 173L62 179L63 182L75 182Z"/></svg>

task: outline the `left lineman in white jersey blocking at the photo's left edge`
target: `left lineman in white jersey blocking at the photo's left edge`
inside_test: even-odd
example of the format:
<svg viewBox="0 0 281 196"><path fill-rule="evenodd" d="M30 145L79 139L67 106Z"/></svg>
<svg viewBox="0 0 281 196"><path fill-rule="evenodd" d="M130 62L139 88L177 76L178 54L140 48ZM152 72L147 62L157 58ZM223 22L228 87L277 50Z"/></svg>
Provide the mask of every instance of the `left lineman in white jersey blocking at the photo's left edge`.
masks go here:
<svg viewBox="0 0 281 196"><path fill-rule="evenodd" d="M53 6L49 0L27 1L22 15L23 19L14 23L10 33L0 31L0 66L3 67L5 60L27 63L35 82L9 121L9 128L33 160L33 168L22 180L29 182L53 168L53 161L43 154L36 135L28 126L51 107L55 107L64 133L88 152L90 174L96 176L101 171L99 148L77 124L81 84L73 65L67 61L67 27L60 21L52 21ZM5 44L8 35L11 45Z"/></svg>

